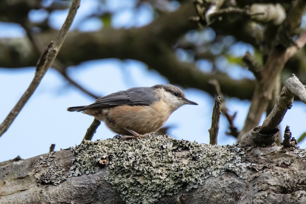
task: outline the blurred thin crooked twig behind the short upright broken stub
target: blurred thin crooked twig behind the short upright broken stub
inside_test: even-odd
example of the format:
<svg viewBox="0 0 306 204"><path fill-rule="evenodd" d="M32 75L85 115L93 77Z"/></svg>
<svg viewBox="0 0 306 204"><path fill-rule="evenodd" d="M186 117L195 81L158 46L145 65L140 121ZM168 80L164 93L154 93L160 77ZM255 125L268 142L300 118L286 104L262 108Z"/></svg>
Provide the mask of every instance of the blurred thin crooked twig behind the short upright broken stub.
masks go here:
<svg viewBox="0 0 306 204"><path fill-rule="evenodd" d="M213 85L215 87L216 93L218 96L221 96L221 112L223 113L223 115L225 115L227 121L229 121L230 123L230 132L226 132L227 135L232 135L235 138L238 137L238 129L237 127L235 127L234 125L234 119L236 117L237 112L235 112L233 115L230 115L228 113L228 109L226 107L226 101L225 98L221 92L221 87L220 87L220 83L218 82L218 80L216 79L211 79L208 81L208 83L210 83L211 85Z"/></svg>

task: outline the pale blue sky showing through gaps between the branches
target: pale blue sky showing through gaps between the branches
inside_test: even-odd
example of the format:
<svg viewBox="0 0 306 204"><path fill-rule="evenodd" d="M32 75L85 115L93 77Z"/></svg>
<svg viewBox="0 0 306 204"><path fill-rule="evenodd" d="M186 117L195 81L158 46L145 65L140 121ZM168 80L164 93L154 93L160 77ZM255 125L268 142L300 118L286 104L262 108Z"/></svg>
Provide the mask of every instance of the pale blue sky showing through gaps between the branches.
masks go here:
<svg viewBox="0 0 306 204"><path fill-rule="evenodd" d="M150 23L154 19L152 8L144 5L134 9L131 4L135 1L106 1L105 9L116 11L111 23L115 28L138 27ZM94 10L97 1L88 0L86 4L81 2L72 29L81 32L99 30L103 23L95 18L83 21ZM177 9L177 3L170 5L172 10ZM60 28L66 17L67 11L56 11L51 14L50 24L54 28ZM45 11L32 11L30 19L39 21L43 19ZM23 37L24 30L18 24L0 22L0 38ZM210 31L208 30L207 33ZM207 33L204 34L207 35ZM1 39L0 39L1 40ZM216 52L218 47L215 48ZM237 56L245 51L252 51L247 45L235 43L230 49ZM178 51L181 59L188 60L188 53ZM184 58L185 56L185 58ZM252 78L252 74L237 65L229 65L220 59L220 66L231 77L241 76ZM209 71L210 62L198 63L203 71ZM81 63L69 67L71 78L96 95L107 95L116 91L126 90L131 87L152 86L158 83L169 83L167 79L154 70L148 70L147 66L135 60L104 59ZM21 95L24 93L34 76L34 67L23 69L0 68L0 122L4 120ZM184 90L189 100L195 101L199 106L183 106L175 111L166 122L165 126L171 126L170 135L177 139L195 140L200 143L209 143L208 129L211 126L211 113L214 106L214 98L204 91L196 89ZM0 138L0 161L15 158L30 158L47 153L50 144L55 143L55 150L65 149L79 144L93 121L93 117L82 113L70 113L67 107L88 105L94 102L69 83L54 69L49 69L38 89L24 106L21 113L13 122L9 130ZM238 129L241 129L250 102L235 98L227 98L227 107L230 113L237 111L234 121ZM306 105L295 101L293 108L288 110L281 124L281 135L286 125L290 126L293 136L298 137L306 131ZM221 117L218 144L232 144L235 139L225 135L228 131L228 122ZM98 128L94 140L111 138L115 134L110 132L104 124ZM299 144L306 147L306 141Z"/></svg>

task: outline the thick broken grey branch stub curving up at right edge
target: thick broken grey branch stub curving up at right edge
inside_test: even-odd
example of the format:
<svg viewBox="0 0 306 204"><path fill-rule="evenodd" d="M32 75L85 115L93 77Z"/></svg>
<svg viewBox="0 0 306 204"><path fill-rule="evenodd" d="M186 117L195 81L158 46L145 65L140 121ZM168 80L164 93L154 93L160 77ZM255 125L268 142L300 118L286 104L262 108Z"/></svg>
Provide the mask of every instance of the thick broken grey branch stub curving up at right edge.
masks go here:
<svg viewBox="0 0 306 204"><path fill-rule="evenodd" d="M306 89L295 75L286 80L274 108L263 121L262 126L253 128L241 137L239 141L241 147L276 145L275 141L279 131L277 126L282 122L287 110L292 107L294 96L298 96L301 101L306 103Z"/></svg>

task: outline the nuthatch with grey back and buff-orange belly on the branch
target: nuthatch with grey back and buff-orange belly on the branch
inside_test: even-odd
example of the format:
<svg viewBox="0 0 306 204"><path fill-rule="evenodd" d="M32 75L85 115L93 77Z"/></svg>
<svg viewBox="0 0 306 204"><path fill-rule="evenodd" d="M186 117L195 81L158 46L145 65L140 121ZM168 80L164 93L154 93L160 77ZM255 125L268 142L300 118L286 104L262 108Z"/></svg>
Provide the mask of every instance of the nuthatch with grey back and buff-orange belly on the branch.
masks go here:
<svg viewBox="0 0 306 204"><path fill-rule="evenodd" d="M111 131L125 135L125 138L135 138L158 131L171 113L185 104L198 105L189 101L179 87L157 84L118 91L97 99L91 105L67 110L91 115L103 121Z"/></svg>

